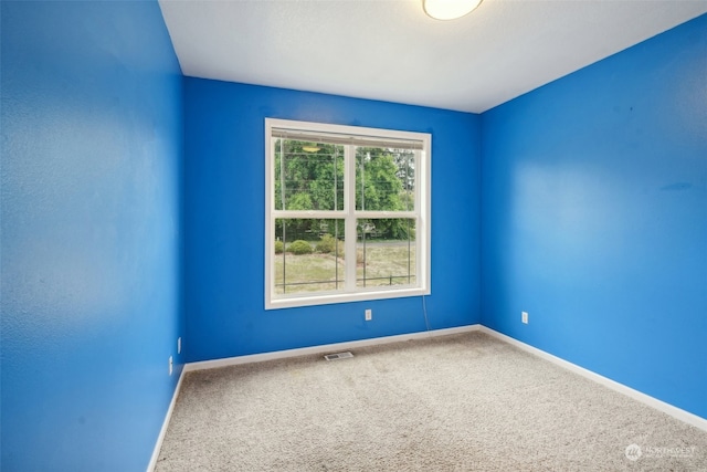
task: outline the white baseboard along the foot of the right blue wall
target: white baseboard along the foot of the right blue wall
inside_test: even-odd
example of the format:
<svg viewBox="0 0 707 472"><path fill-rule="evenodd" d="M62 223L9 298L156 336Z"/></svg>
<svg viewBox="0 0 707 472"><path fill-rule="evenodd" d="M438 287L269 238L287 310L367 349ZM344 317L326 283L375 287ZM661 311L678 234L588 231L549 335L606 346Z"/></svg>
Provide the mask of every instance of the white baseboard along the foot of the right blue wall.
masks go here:
<svg viewBox="0 0 707 472"><path fill-rule="evenodd" d="M560 357L553 356L551 354L546 353L545 350L538 349L537 347L532 347L528 344L525 344L518 339L515 339L510 336L506 336L505 334L498 333L497 331L494 331L492 328L488 328L486 326L481 326L479 331L482 333L486 333L490 336L494 336L500 340L504 340L508 344L511 344L516 347L519 347L523 350L526 350L530 354L534 354L545 360L549 360L552 364L556 364L560 367L563 367L568 370L573 371L574 374L579 374L582 377L585 377L590 380L593 380L598 384L603 385L604 387L608 387L614 391L618 391L620 394L626 395L631 398L633 398L634 400L637 400L644 405L647 405L648 407L655 408L658 411L662 411L666 415L669 415L671 417L678 419L683 422L686 422L687 424L694 426L695 428L698 428L703 431L707 431L707 419L698 417L697 415L693 415L689 411L685 411L682 410L677 407L674 407L669 403L666 403L665 401L658 400L657 398L651 397L650 395L645 395L639 390L634 390L631 387L626 387L623 384L619 384L615 380L612 380L610 378L606 378L604 376L601 376L599 374L595 374L591 370L588 370L583 367L580 367L576 364L572 364L568 360L564 360Z"/></svg>

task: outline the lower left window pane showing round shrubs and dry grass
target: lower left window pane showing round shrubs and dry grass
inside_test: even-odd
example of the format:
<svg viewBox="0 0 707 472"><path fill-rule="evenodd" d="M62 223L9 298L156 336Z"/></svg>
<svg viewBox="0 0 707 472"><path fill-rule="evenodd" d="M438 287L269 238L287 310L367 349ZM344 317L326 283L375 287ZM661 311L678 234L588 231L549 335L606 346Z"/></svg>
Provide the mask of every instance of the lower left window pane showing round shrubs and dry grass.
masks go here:
<svg viewBox="0 0 707 472"><path fill-rule="evenodd" d="M344 220L276 219L276 294L344 290Z"/></svg>

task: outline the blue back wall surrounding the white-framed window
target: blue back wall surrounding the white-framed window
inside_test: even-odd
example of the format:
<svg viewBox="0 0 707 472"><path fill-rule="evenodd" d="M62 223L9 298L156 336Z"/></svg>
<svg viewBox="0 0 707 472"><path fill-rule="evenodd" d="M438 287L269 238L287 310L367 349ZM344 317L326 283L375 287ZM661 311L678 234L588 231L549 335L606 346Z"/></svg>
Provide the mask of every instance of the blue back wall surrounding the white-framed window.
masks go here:
<svg viewBox="0 0 707 472"><path fill-rule="evenodd" d="M421 297L264 310L265 117L432 133L430 324L479 322L478 115L200 78L184 103L188 360L425 329Z"/></svg>

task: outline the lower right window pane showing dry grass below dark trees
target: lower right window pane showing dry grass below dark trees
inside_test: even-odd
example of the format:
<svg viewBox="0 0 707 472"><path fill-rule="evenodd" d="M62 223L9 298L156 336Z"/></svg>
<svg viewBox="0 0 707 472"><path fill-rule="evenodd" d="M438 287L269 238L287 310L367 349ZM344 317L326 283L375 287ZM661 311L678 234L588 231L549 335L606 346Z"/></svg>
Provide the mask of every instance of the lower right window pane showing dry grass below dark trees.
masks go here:
<svg viewBox="0 0 707 472"><path fill-rule="evenodd" d="M356 286L414 285L415 220L357 220Z"/></svg>

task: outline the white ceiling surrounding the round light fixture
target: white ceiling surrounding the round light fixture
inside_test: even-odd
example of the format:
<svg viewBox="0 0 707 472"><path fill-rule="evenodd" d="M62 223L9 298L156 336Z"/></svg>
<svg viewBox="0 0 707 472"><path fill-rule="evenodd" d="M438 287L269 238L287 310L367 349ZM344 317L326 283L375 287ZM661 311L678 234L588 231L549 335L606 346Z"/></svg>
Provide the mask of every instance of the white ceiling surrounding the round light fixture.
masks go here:
<svg viewBox="0 0 707 472"><path fill-rule="evenodd" d="M159 0L184 75L481 113L707 12L707 0Z"/></svg>

